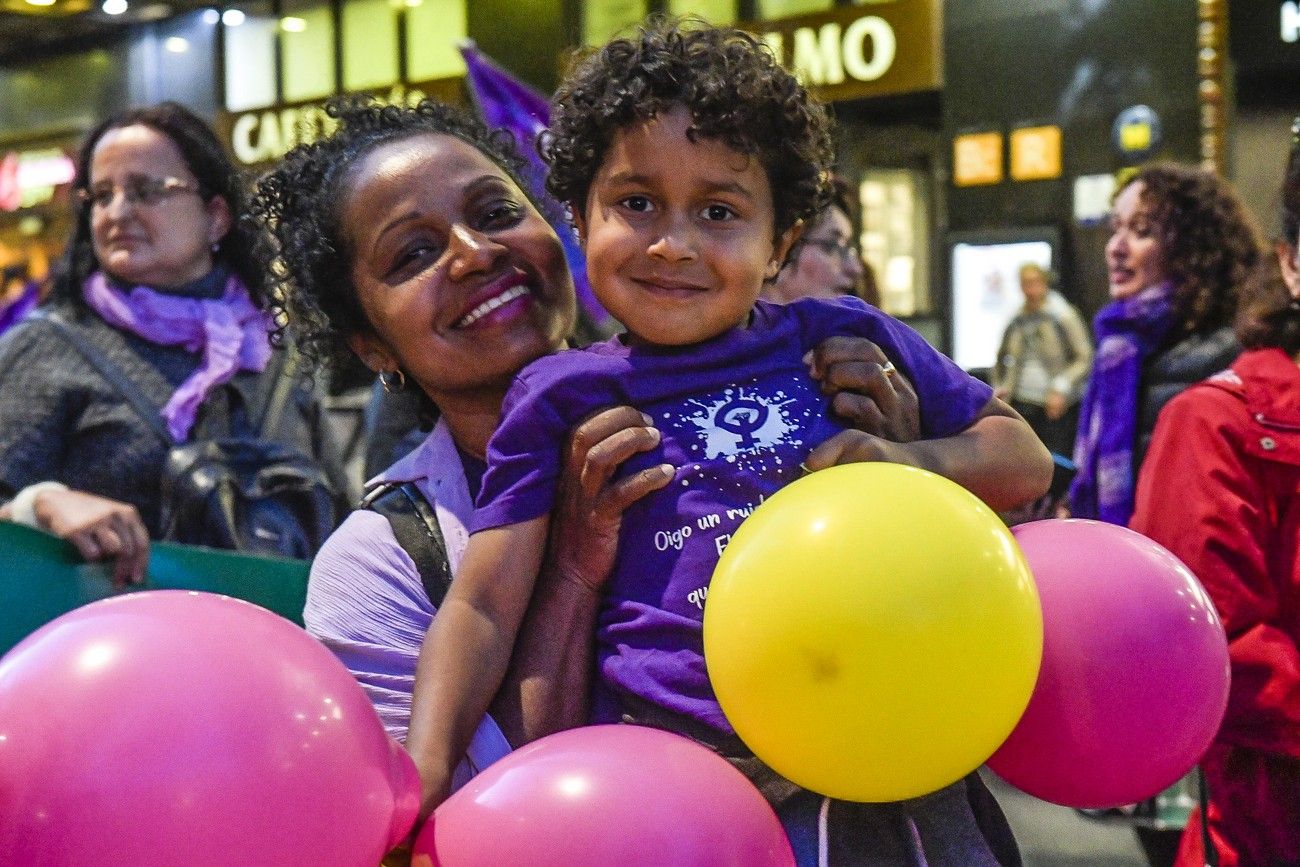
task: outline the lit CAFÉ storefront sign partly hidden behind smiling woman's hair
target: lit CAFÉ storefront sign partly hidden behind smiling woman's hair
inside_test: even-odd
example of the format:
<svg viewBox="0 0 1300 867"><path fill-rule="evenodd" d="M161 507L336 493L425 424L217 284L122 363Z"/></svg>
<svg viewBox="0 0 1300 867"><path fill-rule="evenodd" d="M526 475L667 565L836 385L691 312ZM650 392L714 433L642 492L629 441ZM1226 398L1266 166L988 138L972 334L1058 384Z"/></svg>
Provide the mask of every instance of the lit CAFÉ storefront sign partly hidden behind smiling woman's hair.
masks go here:
<svg viewBox="0 0 1300 867"><path fill-rule="evenodd" d="M381 101L393 105L415 105L436 96L443 101L459 103L460 78L442 78L416 84L394 84L374 92ZM272 105L252 112L226 114L220 118L230 152L244 165L257 165L278 160L298 144L308 144L329 135L334 120L325 113L325 101Z"/></svg>

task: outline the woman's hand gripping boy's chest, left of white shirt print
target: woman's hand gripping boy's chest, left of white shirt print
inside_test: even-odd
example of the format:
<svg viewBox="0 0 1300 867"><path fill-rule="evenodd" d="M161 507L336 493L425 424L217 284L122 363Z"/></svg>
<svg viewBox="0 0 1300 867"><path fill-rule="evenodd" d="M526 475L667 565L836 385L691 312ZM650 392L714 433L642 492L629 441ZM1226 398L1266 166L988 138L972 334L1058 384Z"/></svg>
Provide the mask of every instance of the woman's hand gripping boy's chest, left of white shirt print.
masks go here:
<svg viewBox="0 0 1300 867"><path fill-rule="evenodd" d="M671 465L614 480L623 461L659 445L650 419L630 407L595 413L573 430L551 520L549 565L558 577L597 594L619 550L623 512L672 480Z"/></svg>

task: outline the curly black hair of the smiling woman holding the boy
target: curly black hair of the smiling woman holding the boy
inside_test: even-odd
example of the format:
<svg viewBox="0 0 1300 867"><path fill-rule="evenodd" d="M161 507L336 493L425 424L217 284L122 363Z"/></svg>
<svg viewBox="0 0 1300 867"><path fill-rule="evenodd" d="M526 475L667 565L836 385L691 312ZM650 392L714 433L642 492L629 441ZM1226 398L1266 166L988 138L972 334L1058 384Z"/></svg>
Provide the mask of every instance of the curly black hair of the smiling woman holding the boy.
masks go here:
<svg viewBox="0 0 1300 867"><path fill-rule="evenodd" d="M365 155L416 135L455 135L500 166L525 195L529 187L510 133L489 130L459 108L343 96L325 110L337 121L334 131L299 144L263 175L250 217L263 230L259 252L277 318L287 322L309 364L342 368L352 356L347 338L373 330L352 285L352 251L341 225L347 179Z"/></svg>

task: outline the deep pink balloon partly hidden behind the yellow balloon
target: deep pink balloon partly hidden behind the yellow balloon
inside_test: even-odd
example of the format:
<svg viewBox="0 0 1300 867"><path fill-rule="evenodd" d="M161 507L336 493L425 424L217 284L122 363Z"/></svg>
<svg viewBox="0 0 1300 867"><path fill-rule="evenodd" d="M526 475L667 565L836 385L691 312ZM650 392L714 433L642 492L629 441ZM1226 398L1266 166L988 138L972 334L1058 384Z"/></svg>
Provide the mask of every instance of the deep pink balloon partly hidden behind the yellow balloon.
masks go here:
<svg viewBox="0 0 1300 867"><path fill-rule="evenodd" d="M1043 602L1043 667L988 766L1070 807L1148 798L1187 773L1227 707L1223 624L1196 576L1156 542L1101 521L1011 530Z"/></svg>

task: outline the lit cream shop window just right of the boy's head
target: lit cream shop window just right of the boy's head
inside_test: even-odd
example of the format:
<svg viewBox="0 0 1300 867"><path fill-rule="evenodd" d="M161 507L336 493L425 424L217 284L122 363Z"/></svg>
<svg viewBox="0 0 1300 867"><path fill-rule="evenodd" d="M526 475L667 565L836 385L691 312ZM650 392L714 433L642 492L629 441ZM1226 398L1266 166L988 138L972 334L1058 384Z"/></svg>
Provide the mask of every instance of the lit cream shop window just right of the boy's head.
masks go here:
<svg viewBox="0 0 1300 867"><path fill-rule="evenodd" d="M871 169L858 187L862 257L880 286L880 307L892 316L932 312L930 298L930 203L926 175Z"/></svg>

